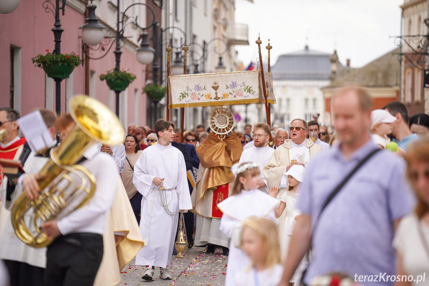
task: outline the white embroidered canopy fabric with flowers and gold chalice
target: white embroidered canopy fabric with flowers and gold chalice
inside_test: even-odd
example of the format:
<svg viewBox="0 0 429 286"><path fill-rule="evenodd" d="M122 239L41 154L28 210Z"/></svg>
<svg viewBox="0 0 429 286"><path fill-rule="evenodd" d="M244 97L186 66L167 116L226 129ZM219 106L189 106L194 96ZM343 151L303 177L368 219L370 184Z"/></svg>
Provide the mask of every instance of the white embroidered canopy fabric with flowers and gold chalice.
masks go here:
<svg viewBox="0 0 429 286"><path fill-rule="evenodd" d="M275 103L272 74L264 72L268 103ZM170 108L265 103L260 71L169 77Z"/></svg>

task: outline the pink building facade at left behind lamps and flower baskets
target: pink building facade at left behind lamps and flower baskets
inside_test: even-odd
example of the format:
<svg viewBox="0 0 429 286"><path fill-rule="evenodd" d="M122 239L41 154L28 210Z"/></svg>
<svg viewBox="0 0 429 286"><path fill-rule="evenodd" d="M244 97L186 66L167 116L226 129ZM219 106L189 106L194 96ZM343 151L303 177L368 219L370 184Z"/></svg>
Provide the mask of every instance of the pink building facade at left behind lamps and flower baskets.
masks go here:
<svg viewBox="0 0 429 286"><path fill-rule="evenodd" d="M52 1L55 4L55 1ZM60 1L61 2L61 1ZM127 0L124 1L128 2ZM18 8L9 14L0 14L0 106L12 107L26 114L34 108L55 110L55 83L47 78L45 72L35 67L31 58L38 54L46 54L46 50L54 50L54 16L46 13L40 0L21 0ZM94 1L97 4L97 16L105 26L115 22L116 6L110 1ZM85 23L85 2L81 0L67 1L65 15L61 15L64 32L61 37L61 53L75 52L82 57L82 41L79 38L79 27ZM121 10L123 8L121 7ZM105 12L106 13L105 13ZM107 15L108 12L108 15ZM102 19L100 14L107 15ZM143 13L145 14L145 13ZM145 20L145 19L143 19ZM129 27L127 27L129 28ZM126 28L126 35L127 35ZM130 28L133 30L133 28ZM138 31L131 31L138 33ZM121 69L129 69L137 76L127 90L120 95L119 118L122 124L146 124L146 95L142 94L145 86L145 66L135 56L137 48L135 37L126 40L121 48ZM100 57L105 51L91 51L93 58ZM113 54L115 44L100 60L89 61L89 96L95 97L113 111L115 110L115 94L98 76L115 67ZM77 67L61 83L61 112L68 111L67 102L76 94L85 93L85 67Z"/></svg>

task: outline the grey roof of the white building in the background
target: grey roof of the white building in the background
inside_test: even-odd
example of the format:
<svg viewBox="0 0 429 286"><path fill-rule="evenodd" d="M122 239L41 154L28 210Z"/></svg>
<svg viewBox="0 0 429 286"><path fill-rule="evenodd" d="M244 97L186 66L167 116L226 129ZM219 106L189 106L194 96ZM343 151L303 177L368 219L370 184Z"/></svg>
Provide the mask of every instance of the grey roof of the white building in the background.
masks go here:
<svg viewBox="0 0 429 286"><path fill-rule="evenodd" d="M273 80L328 80L331 77L331 55L312 51L305 46L302 51L281 55L271 68Z"/></svg>

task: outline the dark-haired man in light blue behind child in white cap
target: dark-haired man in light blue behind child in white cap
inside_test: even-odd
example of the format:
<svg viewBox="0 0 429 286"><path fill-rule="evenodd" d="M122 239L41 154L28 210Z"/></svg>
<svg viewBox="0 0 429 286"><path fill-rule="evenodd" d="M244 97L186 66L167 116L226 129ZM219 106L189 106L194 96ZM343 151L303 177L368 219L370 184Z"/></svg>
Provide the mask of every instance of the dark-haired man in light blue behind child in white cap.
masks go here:
<svg viewBox="0 0 429 286"><path fill-rule="evenodd" d="M395 136L398 146L402 150L407 151L408 145L414 140L419 139L416 133L411 132L408 126L408 111L404 103L399 101L393 101L383 106L393 116L396 117L396 121L392 123L392 134Z"/></svg>

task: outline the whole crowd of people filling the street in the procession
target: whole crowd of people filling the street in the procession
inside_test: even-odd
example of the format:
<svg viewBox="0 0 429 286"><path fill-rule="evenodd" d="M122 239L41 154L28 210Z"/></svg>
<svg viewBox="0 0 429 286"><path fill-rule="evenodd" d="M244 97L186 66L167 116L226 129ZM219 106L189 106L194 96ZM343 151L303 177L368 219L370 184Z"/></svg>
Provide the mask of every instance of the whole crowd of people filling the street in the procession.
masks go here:
<svg viewBox="0 0 429 286"><path fill-rule="evenodd" d="M55 147L75 123L40 112ZM103 285L109 253L118 273L136 256L143 280L156 267L170 280L180 213L189 248L228 256L226 286L429 285L429 116L409 118L397 101L374 110L354 86L337 90L332 113L330 127L297 118L288 130L259 122L225 138L202 124L183 133L163 119L130 124L123 144L85 151L78 164L94 175L95 195L44 222L53 242L35 249L15 236L8 210L20 193L39 196L49 152L29 150L19 113L0 108L0 158L26 172L0 185L10 285Z"/></svg>

